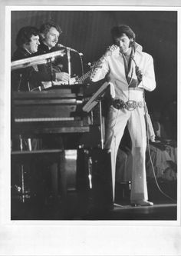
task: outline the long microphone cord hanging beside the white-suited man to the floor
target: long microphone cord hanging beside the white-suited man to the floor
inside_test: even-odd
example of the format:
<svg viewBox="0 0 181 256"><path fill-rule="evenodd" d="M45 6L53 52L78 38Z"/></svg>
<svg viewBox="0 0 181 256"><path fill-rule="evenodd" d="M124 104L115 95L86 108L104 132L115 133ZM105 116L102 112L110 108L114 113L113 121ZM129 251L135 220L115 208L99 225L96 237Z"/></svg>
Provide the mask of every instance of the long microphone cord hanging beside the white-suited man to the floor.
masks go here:
<svg viewBox="0 0 181 256"><path fill-rule="evenodd" d="M143 83L143 80L142 80L142 83ZM144 85L143 85L143 104L144 104L144 111L145 111L145 115L146 115L146 113L148 114L148 111L147 111L147 108L146 108ZM158 181L157 181L157 178L156 178L156 173L155 173L155 168L154 168L154 166L153 166L153 161L152 161L151 153L150 153L150 141L149 141L149 133L148 133L148 124L147 124L147 121L146 121L145 123L146 123L146 140L147 140L147 145L148 145L147 148L148 148L150 163L151 163L151 167L152 167L152 171L153 171L153 176L154 176L154 179L155 179L155 181L156 181L156 186L157 186L157 188L159 189L159 191L161 192L161 194L163 194L166 198L169 198L171 201L176 202L176 200L173 199L173 198L171 198L168 194L166 194L166 193L160 188L160 185L158 184Z"/></svg>

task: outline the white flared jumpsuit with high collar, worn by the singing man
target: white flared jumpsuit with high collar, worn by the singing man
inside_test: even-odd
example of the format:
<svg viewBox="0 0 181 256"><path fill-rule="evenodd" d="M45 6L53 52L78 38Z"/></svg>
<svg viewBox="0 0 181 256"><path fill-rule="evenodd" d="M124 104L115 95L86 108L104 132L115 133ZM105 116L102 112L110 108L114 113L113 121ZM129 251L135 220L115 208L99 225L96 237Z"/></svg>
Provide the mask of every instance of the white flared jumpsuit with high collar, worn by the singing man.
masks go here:
<svg viewBox="0 0 181 256"><path fill-rule="evenodd" d="M107 81L110 82L111 87L110 91L112 91L112 98L118 98L124 102L143 102L143 88L147 91L153 91L154 88L156 88L153 58L151 55L142 52L142 47L136 43L134 60L140 70L143 71L143 79L136 88L129 87L125 75L123 55L121 53L101 57L91 72L91 80L99 81L107 75ZM132 60L133 79L137 79L135 62ZM143 201L148 199L145 168L146 125L144 114L145 111L143 107L127 110L126 108L117 109L114 108L113 105L110 105L107 116L105 148L111 151L113 197L115 190L117 151L124 128L128 125L132 141L132 185L130 201Z"/></svg>

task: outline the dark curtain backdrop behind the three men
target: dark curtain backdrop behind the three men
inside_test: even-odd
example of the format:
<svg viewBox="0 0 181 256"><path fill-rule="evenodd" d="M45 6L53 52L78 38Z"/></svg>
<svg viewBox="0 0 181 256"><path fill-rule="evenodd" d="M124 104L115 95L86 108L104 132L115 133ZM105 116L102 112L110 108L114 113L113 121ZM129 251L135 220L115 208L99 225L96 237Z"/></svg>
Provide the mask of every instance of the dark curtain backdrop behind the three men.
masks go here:
<svg viewBox="0 0 181 256"><path fill-rule="evenodd" d="M94 62L111 45L110 28L127 24L137 35L143 52L153 56L156 84L146 92L147 105L164 108L177 98L177 12L176 11L12 11L12 53L18 30L37 28L52 20L63 34L59 41L84 54L84 63Z"/></svg>

